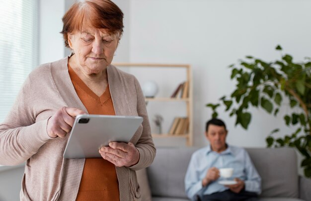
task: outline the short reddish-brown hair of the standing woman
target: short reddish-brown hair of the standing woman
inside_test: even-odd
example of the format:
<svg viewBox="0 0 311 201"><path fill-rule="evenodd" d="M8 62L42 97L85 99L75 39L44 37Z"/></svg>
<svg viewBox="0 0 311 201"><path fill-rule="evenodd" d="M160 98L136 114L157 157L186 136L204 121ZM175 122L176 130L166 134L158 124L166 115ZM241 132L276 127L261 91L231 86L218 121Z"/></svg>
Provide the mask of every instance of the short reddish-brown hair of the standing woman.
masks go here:
<svg viewBox="0 0 311 201"><path fill-rule="evenodd" d="M123 33L123 12L111 0L76 0L63 17L65 46L68 33L83 31L88 27L105 29L109 34L117 34L118 40Z"/></svg>

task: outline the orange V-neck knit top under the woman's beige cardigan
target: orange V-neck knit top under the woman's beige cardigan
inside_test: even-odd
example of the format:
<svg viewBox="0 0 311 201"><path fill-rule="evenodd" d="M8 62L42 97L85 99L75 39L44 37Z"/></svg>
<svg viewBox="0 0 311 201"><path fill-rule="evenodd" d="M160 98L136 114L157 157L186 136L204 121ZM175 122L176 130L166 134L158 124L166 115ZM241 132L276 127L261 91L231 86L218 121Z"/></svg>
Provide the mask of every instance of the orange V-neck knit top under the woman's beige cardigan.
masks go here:
<svg viewBox="0 0 311 201"><path fill-rule="evenodd" d="M84 84L69 64L68 70L78 97L89 114L115 115L109 86L98 97ZM85 159L76 201L119 200L119 182L115 166L103 158Z"/></svg>

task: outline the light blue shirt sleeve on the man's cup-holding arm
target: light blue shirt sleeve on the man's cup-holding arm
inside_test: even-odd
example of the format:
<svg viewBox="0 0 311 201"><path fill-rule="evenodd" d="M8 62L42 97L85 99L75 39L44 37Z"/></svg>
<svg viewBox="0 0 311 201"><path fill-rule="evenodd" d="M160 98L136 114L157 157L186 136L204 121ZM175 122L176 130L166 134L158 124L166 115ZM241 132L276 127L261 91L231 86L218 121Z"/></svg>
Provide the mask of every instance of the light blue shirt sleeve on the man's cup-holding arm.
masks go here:
<svg viewBox="0 0 311 201"><path fill-rule="evenodd" d="M185 175L185 191L189 199L196 200L196 195L202 190L202 181L196 170L197 162L195 155L192 155Z"/></svg>

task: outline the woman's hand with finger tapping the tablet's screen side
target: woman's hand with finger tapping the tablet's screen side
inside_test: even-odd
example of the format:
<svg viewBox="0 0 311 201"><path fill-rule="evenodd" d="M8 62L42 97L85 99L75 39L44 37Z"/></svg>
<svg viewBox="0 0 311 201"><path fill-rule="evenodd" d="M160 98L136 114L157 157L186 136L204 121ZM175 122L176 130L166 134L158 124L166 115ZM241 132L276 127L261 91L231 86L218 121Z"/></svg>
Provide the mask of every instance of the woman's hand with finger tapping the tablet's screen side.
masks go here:
<svg viewBox="0 0 311 201"><path fill-rule="evenodd" d="M78 114L85 114L85 112L73 107L59 108L48 120L48 135L53 138L65 137L71 131Z"/></svg>

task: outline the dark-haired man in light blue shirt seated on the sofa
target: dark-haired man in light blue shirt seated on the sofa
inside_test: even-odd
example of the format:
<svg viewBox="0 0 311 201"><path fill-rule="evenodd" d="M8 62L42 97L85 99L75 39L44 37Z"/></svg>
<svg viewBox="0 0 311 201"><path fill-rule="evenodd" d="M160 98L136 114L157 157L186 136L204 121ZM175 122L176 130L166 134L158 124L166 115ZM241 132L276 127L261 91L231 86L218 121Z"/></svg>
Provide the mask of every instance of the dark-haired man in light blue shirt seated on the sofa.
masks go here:
<svg viewBox="0 0 311 201"><path fill-rule="evenodd" d="M185 190L192 201L250 201L261 193L261 178L248 153L226 144L227 133L220 119L206 123L210 145L193 153L185 176ZM220 168L233 168L231 179L236 184L219 184Z"/></svg>

